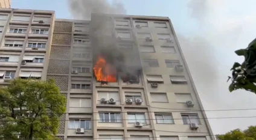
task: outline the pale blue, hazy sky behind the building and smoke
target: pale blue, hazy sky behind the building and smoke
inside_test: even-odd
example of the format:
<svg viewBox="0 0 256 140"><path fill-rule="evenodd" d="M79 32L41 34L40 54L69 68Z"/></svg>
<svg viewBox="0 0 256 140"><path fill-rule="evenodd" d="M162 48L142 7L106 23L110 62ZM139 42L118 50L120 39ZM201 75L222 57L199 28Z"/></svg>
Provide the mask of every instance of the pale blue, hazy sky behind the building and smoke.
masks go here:
<svg viewBox="0 0 256 140"><path fill-rule="evenodd" d="M69 0L76 1L76 0ZM85 1L85 0L83 0ZM111 1L111 0L106 0ZM113 0L114 1L114 0ZM255 0L120 0L126 14L165 16L171 19L215 134L256 125L256 95L229 93L226 82L235 61L234 50L256 37ZM57 19L74 19L68 0L12 0L12 8L54 10ZM222 118L244 117L244 118Z"/></svg>

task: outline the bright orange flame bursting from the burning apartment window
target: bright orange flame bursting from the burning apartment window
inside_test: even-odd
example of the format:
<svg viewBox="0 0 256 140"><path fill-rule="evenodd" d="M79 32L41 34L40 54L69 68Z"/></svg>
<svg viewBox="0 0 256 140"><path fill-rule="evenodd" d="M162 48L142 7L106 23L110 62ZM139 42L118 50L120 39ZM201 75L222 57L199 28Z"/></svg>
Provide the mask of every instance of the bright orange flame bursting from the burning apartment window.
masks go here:
<svg viewBox="0 0 256 140"><path fill-rule="evenodd" d="M106 59L100 55L94 65L94 73L97 81L117 82L116 68L113 65L108 64Z"/></svg>

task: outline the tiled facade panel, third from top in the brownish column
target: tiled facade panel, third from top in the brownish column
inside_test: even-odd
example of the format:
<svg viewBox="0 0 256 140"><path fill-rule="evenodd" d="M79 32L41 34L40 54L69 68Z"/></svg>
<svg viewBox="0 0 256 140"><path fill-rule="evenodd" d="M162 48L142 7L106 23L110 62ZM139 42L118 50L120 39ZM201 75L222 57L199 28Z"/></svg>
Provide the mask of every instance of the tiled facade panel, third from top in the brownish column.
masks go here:
<svg viewBox="0 0 256 140"><path fill-rule="evenodd" d="M69 59L70 56L70 47L62 47L62 46L51 46L51 55L50 58L58 58L58 59Z"/></svg>

